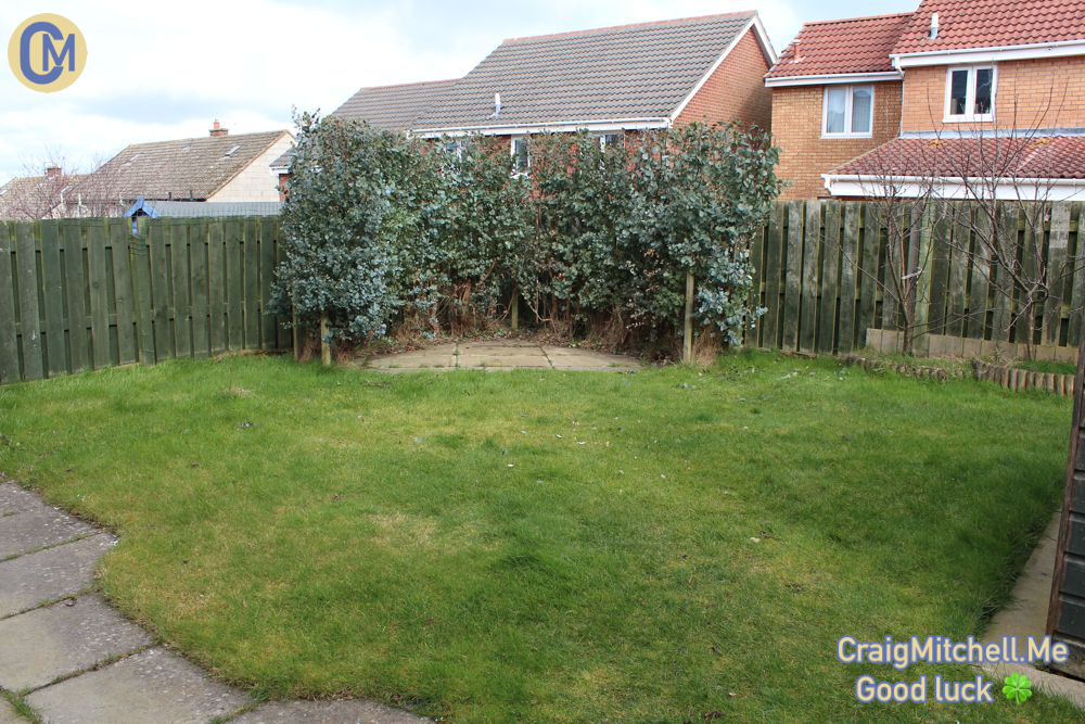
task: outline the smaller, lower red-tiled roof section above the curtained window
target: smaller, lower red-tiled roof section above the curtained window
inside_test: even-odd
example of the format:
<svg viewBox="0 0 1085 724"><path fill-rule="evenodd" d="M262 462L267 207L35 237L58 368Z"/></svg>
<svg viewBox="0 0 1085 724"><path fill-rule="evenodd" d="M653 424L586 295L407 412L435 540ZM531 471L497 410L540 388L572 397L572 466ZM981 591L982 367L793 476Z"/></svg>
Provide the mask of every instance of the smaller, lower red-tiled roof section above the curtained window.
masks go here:
<svg viewBox="0 0 1085 724"><path fill-rule="evenodd" d="M911 13L806 23L766 78L892 71L890 52Z"/></svg>

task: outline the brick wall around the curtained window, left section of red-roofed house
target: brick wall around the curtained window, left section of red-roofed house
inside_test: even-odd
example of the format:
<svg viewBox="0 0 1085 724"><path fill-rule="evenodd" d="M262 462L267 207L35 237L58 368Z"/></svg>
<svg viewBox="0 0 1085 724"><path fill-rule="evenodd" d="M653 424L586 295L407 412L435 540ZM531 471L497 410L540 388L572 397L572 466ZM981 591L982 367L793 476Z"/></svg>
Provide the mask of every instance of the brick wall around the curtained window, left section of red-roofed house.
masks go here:
<svg viewBox="0 0 1085 724"><path fill-rule="evenodd" d="M821 138L825 86L773 89L773 136L780 148L776 175L789 183L781 199L828 196L821 174L897 137L901 81L873 85L875 122L870 138Z"/></svg>

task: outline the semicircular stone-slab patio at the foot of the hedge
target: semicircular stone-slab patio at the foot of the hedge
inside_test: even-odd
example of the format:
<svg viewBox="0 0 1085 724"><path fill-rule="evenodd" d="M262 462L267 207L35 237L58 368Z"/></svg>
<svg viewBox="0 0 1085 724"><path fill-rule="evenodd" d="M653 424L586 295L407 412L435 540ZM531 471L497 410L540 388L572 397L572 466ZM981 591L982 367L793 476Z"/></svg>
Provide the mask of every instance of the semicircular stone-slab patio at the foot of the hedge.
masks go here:
<svg viewBox="0 0 1085 724"><path fill-rule="evenodd" d="M640 363L633 357L518 340L435 344L423 350L373 357L366 366L384 372L449 369L635 372L641 368Z"/></svg>

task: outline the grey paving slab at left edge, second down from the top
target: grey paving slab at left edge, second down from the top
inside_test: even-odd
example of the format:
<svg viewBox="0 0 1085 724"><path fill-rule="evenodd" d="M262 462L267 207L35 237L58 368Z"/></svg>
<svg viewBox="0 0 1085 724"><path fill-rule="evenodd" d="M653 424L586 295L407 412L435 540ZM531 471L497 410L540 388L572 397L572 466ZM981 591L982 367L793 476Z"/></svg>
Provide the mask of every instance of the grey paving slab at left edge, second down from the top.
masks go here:
<svg viewBox="0 0 1085 724"><path fill-rule="evenodd" d="M0 562L0 618L87 588L99 559L115 542L99 533Z"/></svg>

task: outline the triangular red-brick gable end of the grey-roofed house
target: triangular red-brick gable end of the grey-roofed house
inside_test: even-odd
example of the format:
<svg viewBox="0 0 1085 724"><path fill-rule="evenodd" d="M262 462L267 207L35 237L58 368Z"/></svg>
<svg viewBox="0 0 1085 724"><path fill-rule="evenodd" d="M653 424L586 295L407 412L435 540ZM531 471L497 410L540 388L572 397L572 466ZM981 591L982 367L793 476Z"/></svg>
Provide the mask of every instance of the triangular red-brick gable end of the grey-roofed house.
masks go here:
<svg viewBox="0 0 1085 724"><path fill-rule="evenodd" d="M750 28L719 64L676 119L757 126L773 123L773 93L765 87L768 61Z"/></svg>

